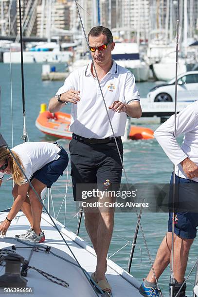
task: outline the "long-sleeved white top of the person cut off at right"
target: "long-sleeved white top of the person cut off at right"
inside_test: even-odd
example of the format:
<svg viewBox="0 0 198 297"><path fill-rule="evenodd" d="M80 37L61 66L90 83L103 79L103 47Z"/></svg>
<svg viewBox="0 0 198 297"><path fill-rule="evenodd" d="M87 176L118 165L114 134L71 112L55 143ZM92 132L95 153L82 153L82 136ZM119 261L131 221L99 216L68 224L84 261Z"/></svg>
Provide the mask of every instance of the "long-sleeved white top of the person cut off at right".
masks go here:
<svg viewBox="0 0 198 297"><path fill-rule="evenodd" d="M187 179L180 162L189 157L198 165L198 101L188 105L177 115L176 136L174 117L172 115L163 123L154 132L154 136L172 163L176 165L176 175ZM180 147L176 137L182 133L184 138ZM192 180L198 181L198 178Z"/></svg>

